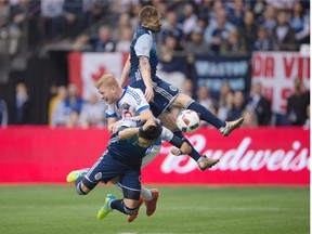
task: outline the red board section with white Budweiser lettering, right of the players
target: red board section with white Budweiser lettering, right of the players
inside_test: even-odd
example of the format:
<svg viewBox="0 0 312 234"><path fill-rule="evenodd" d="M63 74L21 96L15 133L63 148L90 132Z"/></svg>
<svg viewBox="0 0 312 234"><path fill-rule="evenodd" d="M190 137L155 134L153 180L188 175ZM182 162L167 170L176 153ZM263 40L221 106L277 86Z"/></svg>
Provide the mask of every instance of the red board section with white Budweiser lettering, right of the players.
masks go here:
<svg viewBox="0 0 312 234"><path fill-rule="evenodd" d="M165 144L143 170L143 182L198 184L309 184L310 131L302 128L239 129L229 138L202 128L188 134L195 148L220 162L202 172L187 156Z"/></svg>

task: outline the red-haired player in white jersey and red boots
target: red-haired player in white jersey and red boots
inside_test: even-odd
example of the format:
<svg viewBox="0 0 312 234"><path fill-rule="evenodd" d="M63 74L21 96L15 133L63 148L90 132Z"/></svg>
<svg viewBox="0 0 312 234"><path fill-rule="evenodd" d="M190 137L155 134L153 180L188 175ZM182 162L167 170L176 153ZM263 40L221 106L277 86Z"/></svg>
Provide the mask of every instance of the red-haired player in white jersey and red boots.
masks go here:
<svg viewBox="0 0 312 234"><path fill-rule="evenodd" d="M120 122L122 122L122 119L125 118L131 118L133 120L154 118L143 92L131 87L121 88L112 74L103 75L96 81L95 87L101 94L101 99L107 103L105 116L108 121L108 130L113 134L119 130ZM146 155L143 157L142 168L158 155L160 147L161 142L154 142L153 147L150 147L148 151L146 151ZM210 168L219 161L218 158L202 156L193 147L188 155L192 158L199 158L197 164L202 170ZM146 205L146 214L152 216L156 210L159 192L156 188L148 190L142 186L141 195L144 197L144 203ZM142 200L140 200L140 206L142 205L141 202ZM128 221L132 222L136 216L138 210L128 218Z"/></svg>

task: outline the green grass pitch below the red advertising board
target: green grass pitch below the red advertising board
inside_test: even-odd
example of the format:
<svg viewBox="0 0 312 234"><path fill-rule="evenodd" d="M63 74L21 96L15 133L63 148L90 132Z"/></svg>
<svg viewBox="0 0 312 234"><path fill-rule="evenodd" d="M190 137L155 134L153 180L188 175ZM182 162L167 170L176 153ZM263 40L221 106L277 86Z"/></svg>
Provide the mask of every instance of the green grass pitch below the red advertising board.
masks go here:
<svg viewBox="0 0 312 234"><path fill-rule="evenodd" d="M158 186L153 217L141 207L138 219L113 211L96 220L114 186L98 186L87 196L74 186L0 186L0 233L3 234L308 234L309 187Z"/></svg>

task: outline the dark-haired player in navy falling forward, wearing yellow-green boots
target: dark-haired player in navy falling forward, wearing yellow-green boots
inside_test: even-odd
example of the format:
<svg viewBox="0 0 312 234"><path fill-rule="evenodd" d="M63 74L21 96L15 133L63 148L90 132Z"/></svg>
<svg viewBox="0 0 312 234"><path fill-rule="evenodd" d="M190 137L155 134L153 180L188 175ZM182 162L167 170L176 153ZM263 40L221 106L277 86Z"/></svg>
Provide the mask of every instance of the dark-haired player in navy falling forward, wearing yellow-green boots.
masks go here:
<svg viewBox="0 0 312 234"><path fill-rule="evenodd" d="M150 118L145 122L125 119L117 132L110 136L102 157L91 168L68 173L67 182L75 181L77 193L86 195L100 182L107 183L117 178L123 198L116 199L114 195L108 194L98 212L98 219L104 219L114 209L131 217L142 204L140 199L142 159L148 148L153 147L154 142L159 140L174 145L177 148L173 148L172 153L176 155L188 154L192 151L186 141L173 135L157 119Z"/></svg>

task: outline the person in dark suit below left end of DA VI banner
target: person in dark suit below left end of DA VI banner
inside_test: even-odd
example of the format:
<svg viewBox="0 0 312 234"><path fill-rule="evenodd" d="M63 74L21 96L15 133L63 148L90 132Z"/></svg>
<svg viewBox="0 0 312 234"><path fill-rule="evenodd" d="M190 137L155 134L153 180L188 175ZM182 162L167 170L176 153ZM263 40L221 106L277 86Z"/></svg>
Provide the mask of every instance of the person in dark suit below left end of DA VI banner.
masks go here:
<svg viewBox="0 0 312 234"><path fill-rule="evenodd" d="M262 86L260 82L252 84L247 101L247 108L256 114L259 126L269 126L271 123L271 103L262 95Z"/></svg>

